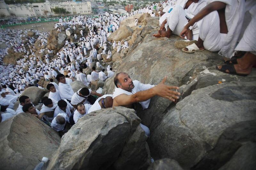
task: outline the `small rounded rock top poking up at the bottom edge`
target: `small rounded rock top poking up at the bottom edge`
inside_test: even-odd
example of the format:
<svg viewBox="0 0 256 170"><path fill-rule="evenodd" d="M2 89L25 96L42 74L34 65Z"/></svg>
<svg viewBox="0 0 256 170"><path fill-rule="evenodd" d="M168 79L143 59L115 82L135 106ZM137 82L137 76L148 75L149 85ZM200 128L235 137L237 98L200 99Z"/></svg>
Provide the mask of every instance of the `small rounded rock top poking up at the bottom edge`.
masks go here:
<svg viewBox="0 0 256 170"><path fill-rule="evenodd" d="M173 159L159 159L148 167L148 170L183 170Z"/></svg>

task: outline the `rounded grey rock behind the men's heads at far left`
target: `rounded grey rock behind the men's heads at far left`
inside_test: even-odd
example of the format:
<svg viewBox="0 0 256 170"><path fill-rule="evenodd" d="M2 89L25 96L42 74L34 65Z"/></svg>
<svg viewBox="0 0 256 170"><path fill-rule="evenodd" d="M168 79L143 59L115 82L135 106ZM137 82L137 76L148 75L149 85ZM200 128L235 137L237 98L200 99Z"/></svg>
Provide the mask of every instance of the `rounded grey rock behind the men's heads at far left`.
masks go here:
<svg viewBox="0 0 256 170"><path fill-rule="evenodd" d="M39 103L44 94L45 91L36 86L28 87L26 88L26 90L24 90L24 92L22 92L22 96L28 96L31 100L31 103L33 103L34 105L37 105Z"/></svg>

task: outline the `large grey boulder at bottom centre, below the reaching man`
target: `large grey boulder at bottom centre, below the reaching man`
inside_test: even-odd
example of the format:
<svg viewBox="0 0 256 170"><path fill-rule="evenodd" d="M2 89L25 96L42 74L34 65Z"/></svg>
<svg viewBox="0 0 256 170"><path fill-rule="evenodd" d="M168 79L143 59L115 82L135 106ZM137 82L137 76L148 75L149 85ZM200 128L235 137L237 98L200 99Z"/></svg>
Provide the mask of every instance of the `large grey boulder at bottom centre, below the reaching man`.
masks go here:
<svg viewBox="0 0 256 170"><path fill-rule="evenodd" d="M133 109L85 115L62 137L47 169L145 169L150 153Z"/></svg>

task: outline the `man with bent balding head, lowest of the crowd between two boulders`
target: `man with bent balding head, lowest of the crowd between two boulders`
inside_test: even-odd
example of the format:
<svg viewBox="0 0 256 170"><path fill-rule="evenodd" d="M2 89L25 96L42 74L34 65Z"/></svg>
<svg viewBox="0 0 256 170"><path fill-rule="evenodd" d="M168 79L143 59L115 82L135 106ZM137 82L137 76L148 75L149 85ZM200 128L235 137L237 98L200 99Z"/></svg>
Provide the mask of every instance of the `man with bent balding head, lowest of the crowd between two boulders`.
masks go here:
<svg viewBox="0 0 256 170"><path fill-rule="evenodd" d="M59 132L60 137L62 137L70 129L69 117L65 113L59 113L53 118L51 127Z"/></svg>

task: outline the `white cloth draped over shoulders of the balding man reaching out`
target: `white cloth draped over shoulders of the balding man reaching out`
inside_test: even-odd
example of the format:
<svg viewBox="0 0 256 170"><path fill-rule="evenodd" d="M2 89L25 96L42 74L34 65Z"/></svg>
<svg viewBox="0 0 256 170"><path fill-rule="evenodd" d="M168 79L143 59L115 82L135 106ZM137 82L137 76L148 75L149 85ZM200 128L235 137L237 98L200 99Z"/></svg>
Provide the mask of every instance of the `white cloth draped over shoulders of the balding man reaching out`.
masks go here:
<svg viewBox="0 0 256 170"><path fill-rule="evenodd" d="M132 92L128 92L121 88L116 87L115 92L113 92L113 99L116 96L119 96L120 94L132 95L132 94L135 94L136 92L148 90L155 86L155 85L149 85L149 84L142 84L138 80L133 80L133 85L134 85L134 88L132 89ZM149 102L150 102L150 99L148 99L146 101L139 102L139 103L141 104L143 109L146 109L146 108L148 108Z"/></svg>

